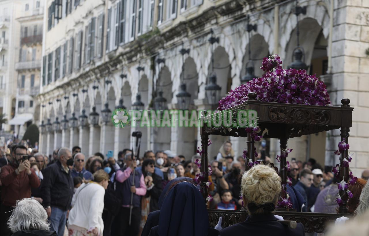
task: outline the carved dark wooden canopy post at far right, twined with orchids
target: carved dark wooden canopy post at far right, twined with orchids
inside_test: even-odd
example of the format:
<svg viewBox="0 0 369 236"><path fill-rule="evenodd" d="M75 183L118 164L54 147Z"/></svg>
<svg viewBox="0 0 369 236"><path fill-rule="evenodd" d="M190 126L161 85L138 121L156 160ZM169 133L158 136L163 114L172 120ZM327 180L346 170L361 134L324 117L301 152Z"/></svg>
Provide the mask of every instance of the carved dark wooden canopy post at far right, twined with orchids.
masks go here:
<svg viewBox="0 0 369 236"><path fill-rule="evenodd" d="M350 107L350 99L344 98L341 100L341 107ZM341 141L345 139L345 143L348 143L350 128L349 127L341 127ZM339 161L339 182L344 180L348 183L349 179L349 168L344 166L344 158L348 156L348 150L345 150L344 153L341 153L340 161ZM339 195L342 198L342 205L339 207L339 213L347 213L348 212L348 195L346 190L339 190Z"/></svg>

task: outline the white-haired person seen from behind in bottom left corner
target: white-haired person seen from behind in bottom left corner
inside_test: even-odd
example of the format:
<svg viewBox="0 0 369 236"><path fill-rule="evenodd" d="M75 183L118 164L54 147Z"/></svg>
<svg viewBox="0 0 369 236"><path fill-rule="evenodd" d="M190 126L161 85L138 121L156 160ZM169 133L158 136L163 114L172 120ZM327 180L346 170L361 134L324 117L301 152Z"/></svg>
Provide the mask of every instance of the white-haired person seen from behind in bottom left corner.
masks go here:
<svg viewBox="0 0 369 236"><path fill-rule="evenodd" d="M56 236L55 231L49 231L45 209L38 201L31 198L17 201L17 206L9 218L8 225L13 236Z"/></svg>

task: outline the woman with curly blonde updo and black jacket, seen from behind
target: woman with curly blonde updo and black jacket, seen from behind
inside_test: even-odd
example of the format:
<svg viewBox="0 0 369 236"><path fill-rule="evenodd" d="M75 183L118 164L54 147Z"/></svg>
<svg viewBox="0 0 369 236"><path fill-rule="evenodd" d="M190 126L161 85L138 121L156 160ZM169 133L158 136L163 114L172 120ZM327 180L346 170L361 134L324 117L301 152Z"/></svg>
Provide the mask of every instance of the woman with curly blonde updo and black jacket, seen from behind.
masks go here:
<svg viewBox="0 0 369 236"><path fill-rule="evenodd" d="M273 215L281 190L281 179L274 169L266 165L254 165L241 180L242 199L249 215L246 221L224 228L219 235L234 236L239 235L239 232L245 232L247 236L305 235L300 223L297 223L296 229L291 229L278 222Z"/></svg>

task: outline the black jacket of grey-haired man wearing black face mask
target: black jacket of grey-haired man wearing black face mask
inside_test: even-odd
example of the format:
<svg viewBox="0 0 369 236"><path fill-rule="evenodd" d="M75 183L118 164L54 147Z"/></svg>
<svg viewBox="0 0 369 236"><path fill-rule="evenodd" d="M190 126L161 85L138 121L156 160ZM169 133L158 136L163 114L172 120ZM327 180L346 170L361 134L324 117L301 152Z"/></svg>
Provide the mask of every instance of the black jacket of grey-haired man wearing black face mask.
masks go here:
<svg viewBox="0 0 369 236"><path fill-rule="evenodd" d="M70 209L72 203L74 183L71 172L68 174L60 161L48 166L44 171L44 180L41 183L42 203L45 207L53 206Z"/></svg>

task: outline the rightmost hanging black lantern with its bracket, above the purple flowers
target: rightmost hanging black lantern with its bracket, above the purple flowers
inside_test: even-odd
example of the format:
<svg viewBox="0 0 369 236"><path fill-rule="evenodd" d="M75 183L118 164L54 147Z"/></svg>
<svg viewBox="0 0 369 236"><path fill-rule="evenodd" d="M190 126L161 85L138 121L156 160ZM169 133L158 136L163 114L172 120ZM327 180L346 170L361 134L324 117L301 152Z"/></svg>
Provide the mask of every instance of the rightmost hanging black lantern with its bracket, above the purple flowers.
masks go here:
<svg viewBox="0 0 369 236"><path fill-rule="evenodd" d="M304 60L305 60L305 50L302 46L300 46L300 41L299 41L299 35L300 35L299 15L300 14L306 15L306 6L304 6L304 7L297 6L297 0L296 0L295 15L296 15L296 19L297 19L297 25L296 25L297 47L295 47L293 49L293 61L288 66L288 68L289 69L294 68L296 70L307 70L308 66L304 62Z"/></svg>

